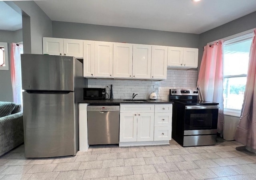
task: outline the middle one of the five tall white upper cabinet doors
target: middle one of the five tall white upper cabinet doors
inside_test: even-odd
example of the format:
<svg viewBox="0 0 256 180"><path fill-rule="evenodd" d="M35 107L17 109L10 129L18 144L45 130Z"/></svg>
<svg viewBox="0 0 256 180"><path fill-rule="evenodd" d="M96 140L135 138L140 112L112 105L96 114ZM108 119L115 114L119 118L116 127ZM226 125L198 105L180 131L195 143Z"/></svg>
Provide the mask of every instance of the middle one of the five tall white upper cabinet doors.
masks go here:
<svg viewBox="0 0 256 180"><path fill-rule="evenodd" d="M114 43L113 76L132 78L132 44Z"/></svg>

